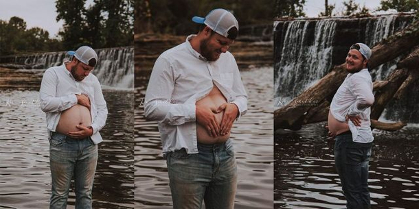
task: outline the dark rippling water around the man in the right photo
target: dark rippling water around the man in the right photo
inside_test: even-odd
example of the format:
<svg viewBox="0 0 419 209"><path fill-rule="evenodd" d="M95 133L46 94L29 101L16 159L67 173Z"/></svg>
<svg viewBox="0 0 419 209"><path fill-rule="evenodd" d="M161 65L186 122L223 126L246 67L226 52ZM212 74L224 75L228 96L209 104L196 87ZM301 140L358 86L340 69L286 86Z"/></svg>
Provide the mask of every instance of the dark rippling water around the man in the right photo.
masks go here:
<svg viewBox="0 0 419 209"><path fill-rule="evenodd" d="M346 208L335 171L335 140L326 136L324 125L275 133L275 208ZM417 208L419 125L373 134L368 180L372 208Z"/></svg>

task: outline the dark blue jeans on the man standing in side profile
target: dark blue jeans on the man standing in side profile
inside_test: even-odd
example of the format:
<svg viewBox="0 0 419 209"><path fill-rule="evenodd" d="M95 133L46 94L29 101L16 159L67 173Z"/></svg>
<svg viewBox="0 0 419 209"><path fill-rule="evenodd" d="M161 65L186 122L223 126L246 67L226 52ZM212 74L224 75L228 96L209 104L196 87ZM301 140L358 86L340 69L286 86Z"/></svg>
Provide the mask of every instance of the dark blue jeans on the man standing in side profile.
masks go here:
<svg viewBox="0 0 419 209"><path fill-rule="evenodd" d="M368 162L372 143L355 143L352 134L336 136L335 164L348 209L371 208Z"/></svg>

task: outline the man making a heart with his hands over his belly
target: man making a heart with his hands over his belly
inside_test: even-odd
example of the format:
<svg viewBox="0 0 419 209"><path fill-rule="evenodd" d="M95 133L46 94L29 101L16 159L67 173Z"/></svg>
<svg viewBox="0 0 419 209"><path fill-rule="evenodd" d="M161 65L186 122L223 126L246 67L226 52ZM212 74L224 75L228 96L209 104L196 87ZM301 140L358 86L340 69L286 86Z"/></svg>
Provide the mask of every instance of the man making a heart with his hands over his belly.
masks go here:
<svg viewBox="0 0 419 209"><path fill-rule="evenodd" d="M227 51L238 22L212 10L197 35L159 56L146 92L145 115L159 121L174 208L233 208L236 159L229 133L247 111L247 94Z"/></svg>

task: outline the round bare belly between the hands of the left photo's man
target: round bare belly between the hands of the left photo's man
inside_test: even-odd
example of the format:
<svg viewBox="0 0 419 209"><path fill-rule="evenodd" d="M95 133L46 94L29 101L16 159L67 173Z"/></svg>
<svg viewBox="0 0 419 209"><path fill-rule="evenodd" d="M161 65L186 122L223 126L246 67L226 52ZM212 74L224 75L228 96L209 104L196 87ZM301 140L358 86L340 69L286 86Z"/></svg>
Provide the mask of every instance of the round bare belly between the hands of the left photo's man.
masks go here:
<svg viewBox="0 0 419 209"><path fill-rule="evenodd" d="M89 127L89 125L91 125L89 109L79 104L61 112L56 132L67 134L67 132L80 131L76 125L83 125L85 127Z"/></svg>

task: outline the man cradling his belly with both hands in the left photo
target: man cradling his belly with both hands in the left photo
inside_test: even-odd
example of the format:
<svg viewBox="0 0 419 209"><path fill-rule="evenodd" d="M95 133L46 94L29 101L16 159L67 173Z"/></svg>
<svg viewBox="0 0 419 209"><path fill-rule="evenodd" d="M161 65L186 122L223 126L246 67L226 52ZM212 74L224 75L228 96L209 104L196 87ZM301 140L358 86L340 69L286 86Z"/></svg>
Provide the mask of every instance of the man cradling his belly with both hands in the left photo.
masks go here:
<svg viewBox="0 0 419 209"><path fill-rule="evenodd" d="M49 133L49 163L52 195L49 208L66 208L71 178L74 177L76 208L91 208L91 191L99 131L108 110L98 78L91 71L98 55L91 47L69 51L71 61L47 69L40 92Z"/></svg>

